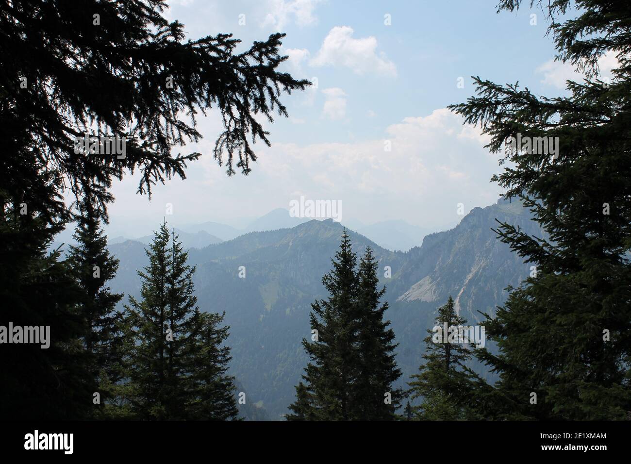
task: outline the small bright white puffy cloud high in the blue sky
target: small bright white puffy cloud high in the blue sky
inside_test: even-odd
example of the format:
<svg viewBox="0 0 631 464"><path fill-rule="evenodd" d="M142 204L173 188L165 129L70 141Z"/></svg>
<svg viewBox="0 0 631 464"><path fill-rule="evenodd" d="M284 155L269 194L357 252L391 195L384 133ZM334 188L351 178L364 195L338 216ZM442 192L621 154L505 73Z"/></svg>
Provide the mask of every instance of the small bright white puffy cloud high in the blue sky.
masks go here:
<svg viewBox="0 0 631 464"><path fill-rule="evenodd" d="M377 56L377 39L372 35L353 39L353 28L336 26L322 42L312 66L346 66L357 74L377 73L396 76L396 66L383 54Z"/></svg>

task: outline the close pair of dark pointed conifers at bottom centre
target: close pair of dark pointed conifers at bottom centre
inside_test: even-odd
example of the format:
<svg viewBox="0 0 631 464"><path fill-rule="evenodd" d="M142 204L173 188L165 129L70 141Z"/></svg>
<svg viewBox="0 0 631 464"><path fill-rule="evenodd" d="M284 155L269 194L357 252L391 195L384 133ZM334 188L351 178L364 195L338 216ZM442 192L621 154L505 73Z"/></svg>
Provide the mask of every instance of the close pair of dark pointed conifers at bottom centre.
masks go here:
<svg viewBox="0 0 631 464"><path fill-rule="evenodd" d="M327 300L312 304L315 342L303 340L310 357L288 420L392 420L403 392L394 361L394 331L384 321L386 293L378 289L377 261L368 247L357 266L343 233L331 273L322 283ZM357 269L356 269L357 268Z"/></svg>

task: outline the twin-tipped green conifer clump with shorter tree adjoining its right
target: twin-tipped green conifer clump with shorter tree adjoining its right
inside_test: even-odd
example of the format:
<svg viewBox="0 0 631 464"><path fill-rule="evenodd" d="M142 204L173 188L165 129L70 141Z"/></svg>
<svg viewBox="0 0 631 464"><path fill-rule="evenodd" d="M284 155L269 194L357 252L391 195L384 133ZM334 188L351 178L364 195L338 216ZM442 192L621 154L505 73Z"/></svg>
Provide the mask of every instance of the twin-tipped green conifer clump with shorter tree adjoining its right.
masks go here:
<svg viewBox="0 0 631 464"><path fill-rule="evenodd" d="M126 306L127 400L134 417L148 420L235 419L233 378L227 376L230 348L223 315L199 312L192 275L175 233L166 223L146 251L149 265L141 300Z"/></svg>

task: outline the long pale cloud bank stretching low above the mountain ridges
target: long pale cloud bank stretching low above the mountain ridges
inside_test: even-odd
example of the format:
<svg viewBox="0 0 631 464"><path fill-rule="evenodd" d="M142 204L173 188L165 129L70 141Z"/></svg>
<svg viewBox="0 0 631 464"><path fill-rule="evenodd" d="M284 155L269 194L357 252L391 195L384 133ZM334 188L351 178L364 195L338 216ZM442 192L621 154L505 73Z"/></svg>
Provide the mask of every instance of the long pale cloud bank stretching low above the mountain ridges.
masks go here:
<svg viewBox="0 0 631 464"><path fill-rule="evenodd" d="M346 97L339 88L327 88L323 95ZM204 133L217 133L220 119L209 119L201 122ZM190 165L186 181L156 186L151 203L135 194L137 175L115 182L112 191L119 201L110 208L112 224L124 229L137 223L139 232L133 236L150 233L150 227L163 220L166 203L174 206L168 220L175 227L205 220L232 223L235 216L258 217L287 208L300 193L341 200L346 218L366 223L403 218L444 229L461 220L457 203L466 209L490 205L501 191L489 182L501 170L497 157L489 156L480 138L473 136L476 129L462 122L449 110L438 109L406 117L368 140L302 145L272 138L270 148L256 145L258 162L247 177L225 175L210 155L214 140L209 137L182 150L204 153ZM384 150L386 139L391 152Z"/></svg>

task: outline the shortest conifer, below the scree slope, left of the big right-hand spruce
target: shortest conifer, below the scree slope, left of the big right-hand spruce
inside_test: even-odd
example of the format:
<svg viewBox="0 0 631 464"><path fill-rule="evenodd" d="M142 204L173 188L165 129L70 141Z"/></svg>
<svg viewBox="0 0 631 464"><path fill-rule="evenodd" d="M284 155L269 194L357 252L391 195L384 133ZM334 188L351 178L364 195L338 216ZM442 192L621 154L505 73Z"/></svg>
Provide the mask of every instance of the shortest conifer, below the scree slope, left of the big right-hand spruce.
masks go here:
<svg viewBox="0 0 631 464"><path fill-rule="evenodd" d="M447 333L445 333L445 324ZM425 364L409 383L411 398L423 398L420 406L413 407L418 419L458 420L471 419L473 411L463 406L467 393L473 390L474 379L466 362L471 358L469 343L457 340L451 328L465 326L466 320L457 314L454 300L438 308L436 325L425 338Z"/></svg>

